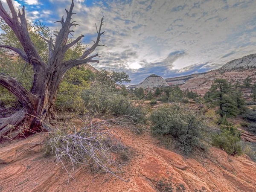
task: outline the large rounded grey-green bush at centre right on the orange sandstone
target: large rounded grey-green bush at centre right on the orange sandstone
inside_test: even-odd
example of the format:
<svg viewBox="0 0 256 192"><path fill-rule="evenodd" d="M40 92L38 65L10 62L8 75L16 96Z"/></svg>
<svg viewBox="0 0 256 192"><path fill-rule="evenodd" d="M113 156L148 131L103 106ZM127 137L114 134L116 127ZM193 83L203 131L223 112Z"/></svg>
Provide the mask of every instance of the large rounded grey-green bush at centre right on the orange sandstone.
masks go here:
<svg viewBox="0 0 256 192"><path fill-rule="evenodd" d="M177 105L164 105L153 111L150 120L152 134L160 140L174 141L175 148L184 154L207 149L203 142L207 125L198 113Z"/></svg>

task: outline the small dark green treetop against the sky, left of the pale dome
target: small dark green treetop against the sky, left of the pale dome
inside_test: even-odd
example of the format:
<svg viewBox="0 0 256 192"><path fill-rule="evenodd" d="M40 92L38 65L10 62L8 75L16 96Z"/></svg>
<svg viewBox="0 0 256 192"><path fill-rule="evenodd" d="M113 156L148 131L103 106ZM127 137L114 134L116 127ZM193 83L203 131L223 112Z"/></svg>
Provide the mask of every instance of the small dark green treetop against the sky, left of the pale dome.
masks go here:
<svg viewBox="0 0 256 192"><path fill-rule="evenodd" d="M113 70L105 70L101 69L99 70L99 73L97 75L97 81L102 84L106 84L108 86L113 84L123 84L123 83L130 83L131 79L129 78L129 75L122 72L116 72Z"/></svg>

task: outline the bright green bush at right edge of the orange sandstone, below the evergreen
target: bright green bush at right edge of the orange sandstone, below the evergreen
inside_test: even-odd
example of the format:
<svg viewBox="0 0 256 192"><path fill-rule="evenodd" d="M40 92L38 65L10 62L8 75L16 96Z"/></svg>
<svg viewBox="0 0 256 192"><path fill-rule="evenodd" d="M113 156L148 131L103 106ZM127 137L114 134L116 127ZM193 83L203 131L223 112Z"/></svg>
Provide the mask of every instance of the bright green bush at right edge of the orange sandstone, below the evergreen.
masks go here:
<svg viewBox="0 0 256 192"><path fill-rule="evenodd" d="M241 134L231 123L227 122L226 116L221 124L221 133L212 136L212 145L222 148L227 154L242 155Z"/></svg>

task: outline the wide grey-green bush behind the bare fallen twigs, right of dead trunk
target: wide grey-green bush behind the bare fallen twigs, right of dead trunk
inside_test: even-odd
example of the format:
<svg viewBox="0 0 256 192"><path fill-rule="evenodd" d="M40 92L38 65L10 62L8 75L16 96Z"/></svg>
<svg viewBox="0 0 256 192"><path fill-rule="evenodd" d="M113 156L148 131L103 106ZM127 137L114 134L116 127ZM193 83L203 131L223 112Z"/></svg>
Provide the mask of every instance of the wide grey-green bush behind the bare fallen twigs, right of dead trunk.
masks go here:
<svg viewBox="0 0 256 192"><path fill-rule="evenodd" d="M135 122L145 122L146 112L142 105L135 104L121 91L102 84L93 84L82 94L87 111L93 115L129 115Z"/></svg>

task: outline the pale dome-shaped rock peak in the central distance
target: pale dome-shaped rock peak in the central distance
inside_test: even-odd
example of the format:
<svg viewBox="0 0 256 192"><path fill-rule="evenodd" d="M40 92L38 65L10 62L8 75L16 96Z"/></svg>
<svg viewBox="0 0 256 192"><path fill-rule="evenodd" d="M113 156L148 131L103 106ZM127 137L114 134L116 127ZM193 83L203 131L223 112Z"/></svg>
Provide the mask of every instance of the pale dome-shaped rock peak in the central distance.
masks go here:
<svg viewBox="0 0 256 192"><path fill-rule="evenodd" d="M166 87L169 86L167 82L160 76L152 74L147 77L142 83L138 84L136 88L142 87L143 89L153 89L154 87Z"/></svg>

